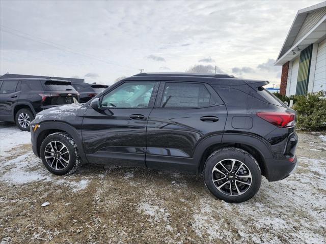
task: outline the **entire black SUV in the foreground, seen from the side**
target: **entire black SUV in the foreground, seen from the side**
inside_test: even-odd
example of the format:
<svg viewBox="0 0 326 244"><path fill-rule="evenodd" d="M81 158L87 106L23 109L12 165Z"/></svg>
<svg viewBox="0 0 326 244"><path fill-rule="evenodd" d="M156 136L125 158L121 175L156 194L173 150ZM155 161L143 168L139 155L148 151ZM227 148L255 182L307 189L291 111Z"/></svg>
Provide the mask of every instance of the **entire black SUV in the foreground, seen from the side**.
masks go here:
<svg viewBox="0 0 326 244"><path fill-rule="evenodd" d="M31 123L33 151L58 175L82 162L203 173L214 196L246 201L261 175L281 180L297 165L295 112L266 84L138 74L86 104L40 112Z"/></svg>

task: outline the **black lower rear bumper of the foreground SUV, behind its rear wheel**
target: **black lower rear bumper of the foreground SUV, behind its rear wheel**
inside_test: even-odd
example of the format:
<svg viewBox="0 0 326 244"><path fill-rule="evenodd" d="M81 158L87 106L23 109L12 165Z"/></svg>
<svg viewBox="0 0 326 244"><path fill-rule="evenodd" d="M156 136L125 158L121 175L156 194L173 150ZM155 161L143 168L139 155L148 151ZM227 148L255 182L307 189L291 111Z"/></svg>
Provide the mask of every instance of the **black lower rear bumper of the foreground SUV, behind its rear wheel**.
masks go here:
<svg viewBox="0 0 326 244"><path fill-rule="evenodd" d="M268 181L278 181L286 178L296 170L298 165L298 160L294 156L294 160L290 162L286 160L275 160L267 159L266 160L266 178Z"/></svg>

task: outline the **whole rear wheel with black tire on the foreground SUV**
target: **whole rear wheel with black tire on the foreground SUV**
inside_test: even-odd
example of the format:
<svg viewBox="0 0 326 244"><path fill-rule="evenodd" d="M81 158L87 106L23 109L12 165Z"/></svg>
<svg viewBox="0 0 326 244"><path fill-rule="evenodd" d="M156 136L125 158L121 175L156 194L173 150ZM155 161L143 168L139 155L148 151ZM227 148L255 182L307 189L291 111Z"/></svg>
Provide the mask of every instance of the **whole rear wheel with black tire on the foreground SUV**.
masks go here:
<svg viewBox="0 0 326 244"><path fill-rule="evenodd" d="M214 151L206 160L204 180L208 190L216 198L226 202L244 202L258 192L261 171L255 158L247 151L225 147Z"/></svg>

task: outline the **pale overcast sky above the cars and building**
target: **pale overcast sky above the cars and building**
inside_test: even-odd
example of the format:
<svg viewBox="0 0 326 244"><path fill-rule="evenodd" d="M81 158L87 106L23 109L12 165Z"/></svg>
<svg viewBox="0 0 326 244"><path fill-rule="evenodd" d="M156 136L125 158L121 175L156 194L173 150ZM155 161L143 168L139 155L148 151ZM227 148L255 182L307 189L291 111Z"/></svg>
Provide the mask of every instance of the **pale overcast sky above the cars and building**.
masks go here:
<svg viewBox="0 0 326 244"><path fill-rule="evenodd" d="M320 2L0 0L0 74L112 84L201 64L277 84L296 12Z"/></svg>

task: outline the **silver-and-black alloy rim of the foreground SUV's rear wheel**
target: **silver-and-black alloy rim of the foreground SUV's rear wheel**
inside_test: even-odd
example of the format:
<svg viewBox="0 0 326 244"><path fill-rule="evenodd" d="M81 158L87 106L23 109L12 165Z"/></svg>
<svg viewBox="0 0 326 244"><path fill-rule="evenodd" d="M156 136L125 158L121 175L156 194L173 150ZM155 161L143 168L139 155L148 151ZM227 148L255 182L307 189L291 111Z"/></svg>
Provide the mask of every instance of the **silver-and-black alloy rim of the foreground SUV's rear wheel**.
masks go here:
<svg viewBox="0 0 326 244"><path fill-rule="evenodd" d="M224 159L212 169L213 184L220 192L228 196L246 193L252 183L249 168L236 159Z"/></svg>

